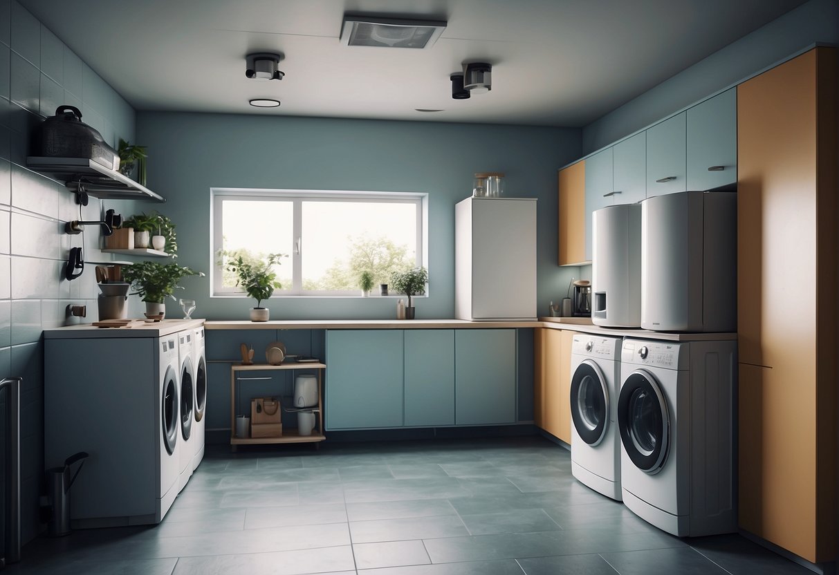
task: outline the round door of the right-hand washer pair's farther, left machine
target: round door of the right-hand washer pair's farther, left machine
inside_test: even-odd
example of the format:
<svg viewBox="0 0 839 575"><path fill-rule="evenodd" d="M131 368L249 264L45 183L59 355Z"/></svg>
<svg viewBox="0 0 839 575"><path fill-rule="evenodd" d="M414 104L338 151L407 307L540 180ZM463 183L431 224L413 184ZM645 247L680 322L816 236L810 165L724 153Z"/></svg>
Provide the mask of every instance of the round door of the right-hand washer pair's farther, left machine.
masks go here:
<svg viewBox="0 0 839 575"><path fill-rule="evenodd" d="M571 376L571 419L577 435L592 447L606 436L609 391L602 370L591 360L583 360Z"/></svg>

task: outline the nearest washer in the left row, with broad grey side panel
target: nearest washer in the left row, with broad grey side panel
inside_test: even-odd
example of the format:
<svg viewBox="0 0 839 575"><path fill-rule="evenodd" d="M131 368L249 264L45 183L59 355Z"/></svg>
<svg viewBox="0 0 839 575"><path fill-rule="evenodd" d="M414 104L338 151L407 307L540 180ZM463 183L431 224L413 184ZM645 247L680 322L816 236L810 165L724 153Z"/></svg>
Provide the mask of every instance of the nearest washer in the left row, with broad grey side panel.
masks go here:
<svg viewBox="0 0 839 575"><path fill-rule="evenodd" d="M44 464L90 453L70 490L74 528L159 523L178 495L177 338L95 330L44 331Z"/></svg>

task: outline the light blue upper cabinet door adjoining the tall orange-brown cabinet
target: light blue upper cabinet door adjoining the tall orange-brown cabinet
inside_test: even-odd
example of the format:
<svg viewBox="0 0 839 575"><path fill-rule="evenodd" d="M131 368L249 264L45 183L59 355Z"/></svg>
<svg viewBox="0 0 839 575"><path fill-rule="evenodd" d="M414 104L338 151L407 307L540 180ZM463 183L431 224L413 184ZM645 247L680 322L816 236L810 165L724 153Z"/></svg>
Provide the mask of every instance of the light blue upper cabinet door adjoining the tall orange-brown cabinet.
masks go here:
<svg viewBox="0 0 839 575"><path fill-rule="evenodd" d="M732 88L687 111L687 189L737 183L737 91Z"/></svg>

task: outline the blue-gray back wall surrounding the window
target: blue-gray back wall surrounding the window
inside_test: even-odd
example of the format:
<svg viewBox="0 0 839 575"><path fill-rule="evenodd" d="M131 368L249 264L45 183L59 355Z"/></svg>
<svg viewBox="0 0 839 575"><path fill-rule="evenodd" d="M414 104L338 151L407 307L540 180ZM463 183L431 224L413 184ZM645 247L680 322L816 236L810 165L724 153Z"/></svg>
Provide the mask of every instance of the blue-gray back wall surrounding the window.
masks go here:
<svg viewBox="0 0 839 575"><path fill-rule="evenodd" d="M212 264L213 187L426 192L430 289L417 300L417 317L451 318L455 204L471 194L472 174L491 170L507 175L508 195L539 199L539 314L576 273L556 266L556 170L581 154L578 129L141 112L137 134L149 147L149 188L167 199L150 207L175 221L179 262L196 270ZM210 298L209 277L184 286L195 317L247 319L254 304ZM395 317L393 298L274 296L267 305L271 319Z"/></svg>

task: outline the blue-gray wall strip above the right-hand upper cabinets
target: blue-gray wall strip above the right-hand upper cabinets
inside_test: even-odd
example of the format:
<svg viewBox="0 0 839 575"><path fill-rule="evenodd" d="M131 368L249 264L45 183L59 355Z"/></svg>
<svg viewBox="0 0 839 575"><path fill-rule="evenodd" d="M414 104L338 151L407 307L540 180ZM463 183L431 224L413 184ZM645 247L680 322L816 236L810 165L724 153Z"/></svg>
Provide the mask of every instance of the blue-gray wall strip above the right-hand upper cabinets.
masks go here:
<svg viewBox="0 0 839 575"><path fill-rule="evenodd" d="M583 153L658 122L816 42L839 44L839 0L810 0L591 122L583 129Z"/></svg>

